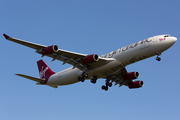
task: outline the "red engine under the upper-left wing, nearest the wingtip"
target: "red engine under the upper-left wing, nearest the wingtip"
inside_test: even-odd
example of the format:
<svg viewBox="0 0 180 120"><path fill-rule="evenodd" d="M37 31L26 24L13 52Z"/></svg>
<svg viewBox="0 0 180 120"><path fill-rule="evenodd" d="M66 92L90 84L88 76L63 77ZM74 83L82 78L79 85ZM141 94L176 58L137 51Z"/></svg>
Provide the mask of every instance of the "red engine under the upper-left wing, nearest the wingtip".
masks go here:
<svg viewBox="0 0 180 120"><path fill-rule="evenodd" d="M48 46L42 51L42 55L52 54L58 51L57 45Z"/></svg>

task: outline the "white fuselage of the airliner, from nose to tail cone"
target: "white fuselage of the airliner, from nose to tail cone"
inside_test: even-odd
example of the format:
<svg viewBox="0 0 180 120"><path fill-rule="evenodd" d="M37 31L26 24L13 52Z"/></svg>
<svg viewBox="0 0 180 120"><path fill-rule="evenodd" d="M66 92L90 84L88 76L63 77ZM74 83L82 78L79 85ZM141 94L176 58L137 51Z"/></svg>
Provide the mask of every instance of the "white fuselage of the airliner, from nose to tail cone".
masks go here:
<svg viewBox="0 0 180 120"><path fill-rule="evenodd" d="M146 58L157 55L157 52L162 53L163 51L170 48L177 38L172 36L159 35L150 37L148 39L136 42L129 46L120 48L112 51L108 54L100 56L101 58L112 59L112 62L87 71L89 76L97 76L98 78L106 78L106 76L118 72L125 66L144 60ZM82 71L78 68L68 68L61 72L52 75L47 85L68 85L78 81L78 77L82 74ZM88 78L90 79L90 78Z"/></svg>

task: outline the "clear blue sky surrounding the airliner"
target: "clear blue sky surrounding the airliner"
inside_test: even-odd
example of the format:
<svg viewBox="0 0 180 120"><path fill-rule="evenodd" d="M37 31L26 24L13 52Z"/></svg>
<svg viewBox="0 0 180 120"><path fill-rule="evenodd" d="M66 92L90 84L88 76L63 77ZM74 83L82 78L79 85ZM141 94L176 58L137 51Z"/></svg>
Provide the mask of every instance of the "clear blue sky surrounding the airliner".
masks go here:
<svg viewBox="0 0 180 120"><path fill-rule="evenodd" d="M179 0L1 0L0 33L60 49L103 55L145 38L180 38ZM127 66L138 71L139 89L113 86L104 79L54 89L15 76L39 77L43 59L55 72L71 65L36 54L0 37L0 120L179 120L180 78L177 42L162 53Z"/></svg>

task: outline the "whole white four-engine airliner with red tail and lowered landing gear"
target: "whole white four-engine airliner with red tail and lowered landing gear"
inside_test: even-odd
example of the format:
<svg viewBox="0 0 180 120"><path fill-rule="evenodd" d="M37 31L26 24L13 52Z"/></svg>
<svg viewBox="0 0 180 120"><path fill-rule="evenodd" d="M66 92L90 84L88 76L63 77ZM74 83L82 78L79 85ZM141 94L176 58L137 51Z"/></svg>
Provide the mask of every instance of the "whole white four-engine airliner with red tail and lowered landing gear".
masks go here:
<svg viewBox="0 0 180 120"><path fill-rule="evenodd" d="M139 72L128 72L126 66L155 55L156 60L160 61L161 53L177 41L177 38L171 35L157 35L98 56L62 50L57 45L35 44L9 37L6 34L3 36L9 41L35 49L36 53L41 54L42 57L48 56L52 58L52 61L59 60L63 62L63 65L66 63L72 65L68 69L55 73L41 59L37 61L40 78L24 74L16 74L17 76L36 81L37 85L48 85L53 88L84 82L88 79L95 84L97 79L103 78L105 85L101 88L105 91L112 86L113 82L119 87L125 85L129 89L141 88L144 82L135 81L139 77Z"/></svg>

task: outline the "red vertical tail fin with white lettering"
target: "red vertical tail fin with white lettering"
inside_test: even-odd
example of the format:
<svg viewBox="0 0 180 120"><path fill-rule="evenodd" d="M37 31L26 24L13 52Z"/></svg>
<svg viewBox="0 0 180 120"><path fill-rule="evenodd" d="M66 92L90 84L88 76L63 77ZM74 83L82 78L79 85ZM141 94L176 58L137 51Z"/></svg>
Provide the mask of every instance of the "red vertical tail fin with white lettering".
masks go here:
<svg viewBox="0 0 180 120"><path fill-rule="evenodd" d="M53 74L55 74L55 72L53 72L43 60L39 60L37 61L37 65L38 65L38 69L39 69L39 75L41 79L45 80L45 83L47 83L49 77Z"/></svg>

